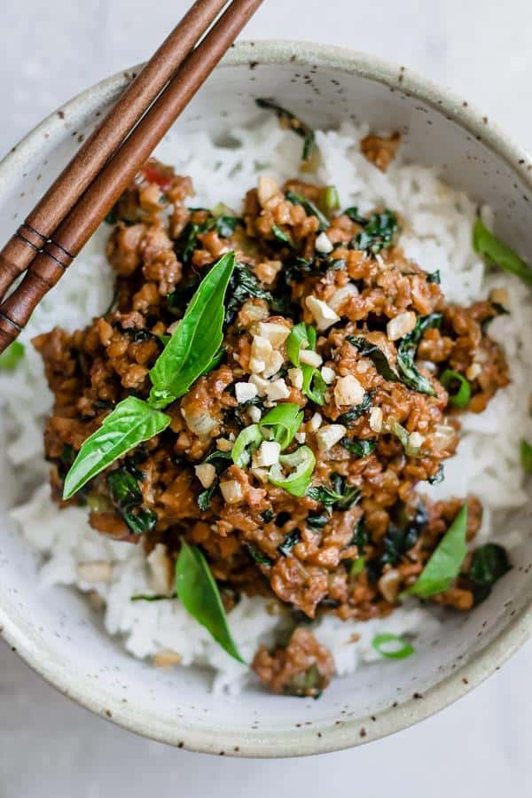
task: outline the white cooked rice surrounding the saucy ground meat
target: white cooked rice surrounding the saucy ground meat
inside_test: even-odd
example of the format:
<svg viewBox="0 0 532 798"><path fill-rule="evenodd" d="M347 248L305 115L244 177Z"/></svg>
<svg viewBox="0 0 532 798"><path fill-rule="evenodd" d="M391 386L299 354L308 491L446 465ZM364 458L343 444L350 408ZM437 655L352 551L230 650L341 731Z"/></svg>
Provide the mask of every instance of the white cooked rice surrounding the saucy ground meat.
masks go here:
<svg viewBox="0 0 532 798"><path fill-rule="evenodd" d="M434 169L407 165L401 158L386 174L379 172L359 152L358 142L367 132L364 126L351 124L335 132L317 132L322 153L317 180L337 186L342 207L357 205L366 213L385 204L399 212L405 222L401 237L405 253L426 270L440 270L442 289L450 301L466 304L484 299L494 286L504 286L510 297L511 315L498 317L490 334L505 348L512 383L497 393L485 412L463 417L463 438L458 455L445 464L445 481L426 489L433 497L465 496L468 492L478 496L485 508L481 536L486 539L493 512L508 511L526 501L519 449L520 438L532 439L528 412L532 348L527 344L532 301L517 278L489 272L474 254L473 203L442 184ZM238 210L258 174L282 181L297 173L301 139L279 129L275 120L258 129L233 131L232 136L238 146L216 145L207 134L173 137L160 145L157 154L161 160L174 164L178 173L192 176L194 204L213 207L223 201ZM107 233L108 228L98 231L68 276L35 311L31 325L21 336L27 346L17 369L0 372L0 403L7 410L0 415L0 419L7 419L5 455L17 473L27 474L27 484L40 484L12 516L28 544L42 557L40 580L44 588L66 584L85 592L95 591L106 602L106 630L120 636L129 653L145 658L163 650L174 651L181 656L183 666L214 669L215 690L238 692L249 678L248 669L224 653L178 601L130 601L135 594L153 592L141 548L113 543L98 535L81 508L58 512L51 502L42 442L51 393L41 358L29 340L54 325L67 330L82 327L105 311L113 284L104 254ZM22 497L18 498L20 501ZM80 566L87 563L105 564L108 581L83 582ZM286 625L286 614L271 614L274 604L244 598L231 612L231 631L247 661L260 642L271 644ZM432 614L412 602L384 620L366 623L341 622L327 616L314 624L314 630L331 649L342 676L379 656L371 645L376 633L415 637L421 629L429 634L437 623ZM360 636L358 641L351 642L356 635Z"/></svg>

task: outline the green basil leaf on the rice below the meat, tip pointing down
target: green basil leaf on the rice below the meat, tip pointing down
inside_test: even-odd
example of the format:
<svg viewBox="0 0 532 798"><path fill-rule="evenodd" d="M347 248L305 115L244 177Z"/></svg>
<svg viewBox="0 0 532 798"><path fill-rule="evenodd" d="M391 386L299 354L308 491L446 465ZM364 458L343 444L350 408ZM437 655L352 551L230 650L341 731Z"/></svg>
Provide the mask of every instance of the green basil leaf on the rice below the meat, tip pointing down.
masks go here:
<svg viewBox="0 0 532 798"><path fill-rule="evenodd" d="M245 664L231 637L220 591L207 560L196 546L183 541L176 563L176 593L186 611L235 660Z"/></svg>

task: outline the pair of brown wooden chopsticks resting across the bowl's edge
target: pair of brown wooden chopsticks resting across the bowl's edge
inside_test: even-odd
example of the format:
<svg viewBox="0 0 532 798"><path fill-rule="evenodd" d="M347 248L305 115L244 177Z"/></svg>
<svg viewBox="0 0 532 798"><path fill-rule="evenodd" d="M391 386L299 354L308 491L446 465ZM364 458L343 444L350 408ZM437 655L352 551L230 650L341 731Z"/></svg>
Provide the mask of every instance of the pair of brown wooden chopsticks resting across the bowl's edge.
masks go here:
<svg viewBox="0 0 532 798"><path fill-rule="evenodd" d="M231 0L216 20L227 4L196 0L0 251L0 353L27 325L262 0Z"/></svg>

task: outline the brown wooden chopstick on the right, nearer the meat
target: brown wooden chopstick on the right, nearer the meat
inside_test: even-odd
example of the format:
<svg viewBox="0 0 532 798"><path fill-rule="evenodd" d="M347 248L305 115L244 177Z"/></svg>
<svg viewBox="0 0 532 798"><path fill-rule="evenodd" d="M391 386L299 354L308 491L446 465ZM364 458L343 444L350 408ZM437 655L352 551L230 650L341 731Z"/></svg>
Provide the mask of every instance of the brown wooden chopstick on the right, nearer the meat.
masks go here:
<svg viewBox="0 0 532 798"><path fill-rule="evenodd" d="M261 4L262 0L233 0L36 254L20 286L0 305L0 353L19 335Z"/></svg>

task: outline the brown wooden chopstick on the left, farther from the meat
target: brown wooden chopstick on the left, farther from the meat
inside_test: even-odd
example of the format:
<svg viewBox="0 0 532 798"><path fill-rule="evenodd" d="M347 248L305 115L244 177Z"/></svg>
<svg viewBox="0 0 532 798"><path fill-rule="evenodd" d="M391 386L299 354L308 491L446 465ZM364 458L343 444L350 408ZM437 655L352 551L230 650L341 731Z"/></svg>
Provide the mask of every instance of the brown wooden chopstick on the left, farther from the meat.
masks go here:
<svg viewBox="0 0 532 798"><path fill-rule="evenodd" d="M228 0L196 0L0 252L0 301L135 127Z"/></svg>

